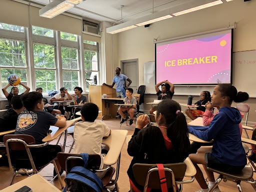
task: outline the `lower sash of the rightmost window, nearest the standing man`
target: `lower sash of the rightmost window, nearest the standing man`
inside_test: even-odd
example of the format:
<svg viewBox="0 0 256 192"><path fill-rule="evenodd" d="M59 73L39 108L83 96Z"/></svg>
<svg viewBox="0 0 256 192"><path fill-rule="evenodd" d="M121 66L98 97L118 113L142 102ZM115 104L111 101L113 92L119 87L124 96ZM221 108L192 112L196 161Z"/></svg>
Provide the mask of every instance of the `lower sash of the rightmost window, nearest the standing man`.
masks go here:
<svg viewBox="0 0 256 192"><path fill-rule="evenodd" d="M85 80L89 84L98 84L99 71L98 71L98 53L91 50L84 50L84 70ZM85 90L89 90L89 85L85 83Z"/></svg>

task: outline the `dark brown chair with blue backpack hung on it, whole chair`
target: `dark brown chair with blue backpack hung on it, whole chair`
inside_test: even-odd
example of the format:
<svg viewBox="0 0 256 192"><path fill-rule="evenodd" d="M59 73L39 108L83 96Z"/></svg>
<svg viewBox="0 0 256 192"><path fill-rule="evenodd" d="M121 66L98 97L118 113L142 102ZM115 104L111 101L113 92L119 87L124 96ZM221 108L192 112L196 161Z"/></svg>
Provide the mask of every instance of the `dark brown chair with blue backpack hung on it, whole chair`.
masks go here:
<svg viewBox="0 0 256 192"><path fill-rule="evenodd" d="M58 157L61 168L66 171L66 174L71 170L72 167L84 165L81 154L58 152L57 157ZM93 172L105 170L105 169L99 170L100 162L101 162L100 155L89 154L88 164L86 168L91 169ZM109 166L107 168L107 172L105 173L103 178L101 178L103 183L103 188L105 188L106 186L112 185L111 178L114 172L115 172L114 167Z"/></svg>

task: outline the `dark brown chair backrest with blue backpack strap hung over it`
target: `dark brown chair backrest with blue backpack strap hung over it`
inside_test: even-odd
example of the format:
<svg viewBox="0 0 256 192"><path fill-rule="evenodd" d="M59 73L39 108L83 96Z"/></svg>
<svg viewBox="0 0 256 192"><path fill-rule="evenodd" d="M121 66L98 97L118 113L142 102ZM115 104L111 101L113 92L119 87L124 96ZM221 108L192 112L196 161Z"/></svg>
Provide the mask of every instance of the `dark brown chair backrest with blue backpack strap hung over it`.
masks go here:
<svg viewBox="0 0 256 192"><path fill-rule="evenodd" d="M83 166L84 162L81 158L81 154L58 152L58 162L63 170L68 173L74 166ZM92 170L98 170L101 163L101 157L98 154L89 154L87 168Z"/></svg>

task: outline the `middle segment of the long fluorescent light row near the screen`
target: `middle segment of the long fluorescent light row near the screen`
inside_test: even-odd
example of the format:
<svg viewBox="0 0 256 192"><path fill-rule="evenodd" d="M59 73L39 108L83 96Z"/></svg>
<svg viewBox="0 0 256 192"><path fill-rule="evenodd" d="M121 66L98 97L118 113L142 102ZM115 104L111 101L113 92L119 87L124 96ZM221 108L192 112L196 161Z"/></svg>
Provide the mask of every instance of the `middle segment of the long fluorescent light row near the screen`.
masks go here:
<svg viewBox="0 0 256 192"><path fill-rule="evenodd" d="M157 21L164 20L171 17L172 16L170 15L170 9L165 9L159 12L155 12L149 15L139 17L134 20L134 24L137 26L142 26L145 24L150 24L150 23L157 22Z"/></svg>

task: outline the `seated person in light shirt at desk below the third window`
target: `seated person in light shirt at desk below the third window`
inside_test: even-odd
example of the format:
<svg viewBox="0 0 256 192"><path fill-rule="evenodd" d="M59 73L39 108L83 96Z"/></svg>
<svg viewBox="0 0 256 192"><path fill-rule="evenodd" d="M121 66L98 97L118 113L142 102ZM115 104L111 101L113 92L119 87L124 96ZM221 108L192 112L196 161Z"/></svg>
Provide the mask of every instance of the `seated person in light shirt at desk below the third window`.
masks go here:
<svg viewBox="0 0 256 192"><path fill-rule="evenodd" d="M72 100L72 96L67 92L67 89L65 87L61 87L59 89L60 93L55 94L50 98L51 102L54 101L63 101L63 100ZM54 102L54 109L58 109L61 111L61 114L65 113L64 106L67 105L67 102Z"/></svg>

